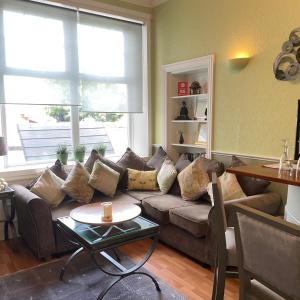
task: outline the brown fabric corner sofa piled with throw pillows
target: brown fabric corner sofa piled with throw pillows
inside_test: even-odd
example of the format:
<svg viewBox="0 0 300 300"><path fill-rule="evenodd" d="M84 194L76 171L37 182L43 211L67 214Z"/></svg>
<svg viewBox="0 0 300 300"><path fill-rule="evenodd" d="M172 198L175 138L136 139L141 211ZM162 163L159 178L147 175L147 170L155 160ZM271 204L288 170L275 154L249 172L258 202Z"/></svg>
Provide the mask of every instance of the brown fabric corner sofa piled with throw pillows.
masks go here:
<svg viewBox="0 0 300 300"><path fill-rule="evenodd" d="M58 217L81 205L75 200L63 201L50 208L47 203L21 185L13 186L16 195L19 233L38 258L74 248L56 225ZM94 196L97 201L129 202L140 205L147 218L160 224L161 241L209 265L216 253L214 209L207 200L184 201L180 196L159 192L118 192L113 199ZM225 203L232 224L232 203L243 203L269 214L277 214L281 199L276 193L265 193Z"/></svg>

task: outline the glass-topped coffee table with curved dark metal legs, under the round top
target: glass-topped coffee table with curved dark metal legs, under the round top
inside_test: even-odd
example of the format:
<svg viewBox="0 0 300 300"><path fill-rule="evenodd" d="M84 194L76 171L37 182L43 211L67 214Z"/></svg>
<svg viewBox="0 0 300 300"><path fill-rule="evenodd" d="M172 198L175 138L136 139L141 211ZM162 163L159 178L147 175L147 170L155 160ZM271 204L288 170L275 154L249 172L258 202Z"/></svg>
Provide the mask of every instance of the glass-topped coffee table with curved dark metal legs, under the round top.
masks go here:
<svg viewBox="0 0 300 300"><path fill-rule="evenodd" d="M155 278L143 271L138 271L152 255L158 241L159 225L155 224L143 217L137 217L130 221L125 221L113 225L91 225L80 223L71 217L62 217L57 219L58 226L63 230L68 240L79 246L79 248L68 258L60 273L60 280L63 280L65 271L71 261L82 251L86 251L94 261L94 263L104 273L115 276L116 278L103 290L98 296L98 300L102 299L106 293L117 282L125 277L139 274L145 275L152 279L157 291L160 287ZM126 268L122 265L122 261L118 255L117 248L135 241L151 239L152 243L145 254L144 258L136 265ZM113 250L116 258L107 253L107 250ZM118 271L110 271L104 268L97 259L103 257L105 261L112 264Z"/></svg>

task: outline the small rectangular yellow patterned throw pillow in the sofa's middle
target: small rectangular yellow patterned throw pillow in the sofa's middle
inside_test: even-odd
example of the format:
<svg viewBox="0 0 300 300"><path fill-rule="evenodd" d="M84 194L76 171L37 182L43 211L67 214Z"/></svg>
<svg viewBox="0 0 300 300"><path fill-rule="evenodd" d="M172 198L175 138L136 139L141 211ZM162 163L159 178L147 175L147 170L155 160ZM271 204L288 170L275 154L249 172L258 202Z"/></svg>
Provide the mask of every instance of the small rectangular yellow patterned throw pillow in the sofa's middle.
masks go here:
<svg viewBox="0 0 300 300"><path fill-rule="evenodd" d="M156 191L157 171L138 171L133 169L128 170L128 190L147 190Z"/></svg>

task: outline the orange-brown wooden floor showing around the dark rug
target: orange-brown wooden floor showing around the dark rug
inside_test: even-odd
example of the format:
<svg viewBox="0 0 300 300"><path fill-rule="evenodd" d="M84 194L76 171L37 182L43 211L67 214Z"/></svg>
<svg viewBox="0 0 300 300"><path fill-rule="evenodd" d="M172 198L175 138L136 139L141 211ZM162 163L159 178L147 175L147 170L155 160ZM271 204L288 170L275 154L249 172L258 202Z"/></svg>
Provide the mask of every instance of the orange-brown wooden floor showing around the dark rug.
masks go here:
<svg viewBox="0 0 300 300"><path fill-rule="evenodd" d="M148 242L142 241L122 248L129 257L137 260L145 254ZM41 264L21 240L0 241L0 276ZM183 254L158 244L145 265L153 274L176 289L188 299L211 298L213 273ZM238 299L238 280L227 279L225 300Z"/></svg>

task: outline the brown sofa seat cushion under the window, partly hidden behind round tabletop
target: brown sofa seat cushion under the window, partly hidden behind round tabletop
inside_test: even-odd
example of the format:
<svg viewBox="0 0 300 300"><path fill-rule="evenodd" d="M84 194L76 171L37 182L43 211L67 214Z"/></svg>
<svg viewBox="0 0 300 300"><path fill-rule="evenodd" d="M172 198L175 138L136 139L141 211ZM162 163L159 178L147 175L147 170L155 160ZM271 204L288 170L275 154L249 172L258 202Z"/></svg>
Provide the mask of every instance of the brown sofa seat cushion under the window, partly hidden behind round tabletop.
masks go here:
<svg viewBox="0 0 300 300"><path fill-rule="evenodd" d="M91 203L96 202L112 202L112 203L130 203L140 205L141 201L131 197L130 195L124 194L122 192L118 192L115 194L113 198L106 197L106 196L94 196ZM70 199L68 201L62 202L59 206L54 207L51 209L52 213L52 221L56 221L57 218L69 216L72 209L83 205L82 203L78 203L74 199Z"/></svg>

